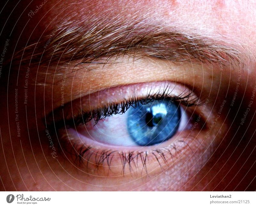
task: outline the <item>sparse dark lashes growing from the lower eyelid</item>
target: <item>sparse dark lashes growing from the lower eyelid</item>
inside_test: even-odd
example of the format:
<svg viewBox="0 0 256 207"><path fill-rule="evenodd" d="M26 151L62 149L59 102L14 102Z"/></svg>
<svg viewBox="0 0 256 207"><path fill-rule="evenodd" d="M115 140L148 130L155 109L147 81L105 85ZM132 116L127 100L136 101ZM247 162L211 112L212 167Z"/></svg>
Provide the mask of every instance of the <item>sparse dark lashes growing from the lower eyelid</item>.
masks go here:
<svg viewBox="0 0 256 207"><path fill-rule="evenodd" d="M177 142L182 142L185 145L189 147L189 145L184 140L178 140ZM176 143L177 143L176 142ZM76 148L75 148L76 149ZM122 165L121 174L125 175L128 173L138 173L138 170L141 169L141 174L146 173L148 174L147 165L155 161L159 164L162 171L164 171L164 168L169 167L168 159L172 159L174 161L174 158L177 159L178 155L181 151L176 146L175 143L172 143L168 147L163 147L160 149L151 150L150 152L118 152L113 150L102 150L99 149L96 152L92 152L92 147L88 146L85 147L80 146L76 149L75 154L75 160L79 162L80 166L86 166L86 168L89 168L89 164L93 164L94 166L94 172L99 170L100 167L107 167L109 171L111 171L111 162L114 158L119 158L120 163ZM171 152L174 150L174 153ZM167 157L169 155L169 157ZM150 159L149 159L150 157ZM153 160L153 161L152 161ZM129 169L129 172L126 172L126 168ZM91 168L90 168L91 169ZM108 172L109 173L109 172Z"/></svg>

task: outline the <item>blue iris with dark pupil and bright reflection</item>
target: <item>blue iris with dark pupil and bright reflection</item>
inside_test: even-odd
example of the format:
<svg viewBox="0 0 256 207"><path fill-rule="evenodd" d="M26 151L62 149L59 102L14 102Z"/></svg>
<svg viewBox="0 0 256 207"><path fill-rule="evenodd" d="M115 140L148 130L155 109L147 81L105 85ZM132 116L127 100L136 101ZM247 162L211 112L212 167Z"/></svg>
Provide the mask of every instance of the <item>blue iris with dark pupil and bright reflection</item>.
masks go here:
<svg viewBox="0 0 256 207"><path fill-rule="evenodd" d="M170 139L178 130L181 117L180 107L167 99L130 107L127 112L129 135L141 146Z"/></svg>

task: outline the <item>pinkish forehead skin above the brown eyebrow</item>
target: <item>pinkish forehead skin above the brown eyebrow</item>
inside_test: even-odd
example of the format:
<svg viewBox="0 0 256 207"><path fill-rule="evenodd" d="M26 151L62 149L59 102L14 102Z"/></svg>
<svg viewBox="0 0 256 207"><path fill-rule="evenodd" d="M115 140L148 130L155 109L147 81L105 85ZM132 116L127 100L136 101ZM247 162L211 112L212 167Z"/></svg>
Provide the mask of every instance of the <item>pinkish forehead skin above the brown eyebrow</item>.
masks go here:
<svg viewBox="0 0 256 207"><path fill-rule="evenodd" d="M170 30L177 28L184 32L221 40L226 45L237 47L246 61L248 55L251 56L256 52L254 47L256 17L253 10L256 3L253 2L69 0L47 1L42 7L41 4L41 0L31 3L27 1L22 4L19 11L16 11L17 8L14 9L9 18L15 19L10 24L13 27L9 25L5 27L9 26L11 30L13 29L12 36L15 39L19 38L20 41L18 43L11 41L10 48L16 47L15 51L17 51L18 48L37 42L43 36L50 35L67 19L70 22L79 21L83 26L85 21L104 16L106 20L137 17L150 24L163 24ZM41 8L36 12L37 7ZM34 15L29 17L29 12ZM75 15L70 18L72 14ZM3 30L7 37L9 30L5 28ZM250 57L250 61L254 61L253 56Z"/></svg>

